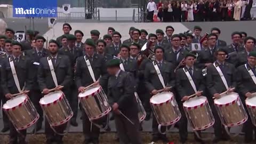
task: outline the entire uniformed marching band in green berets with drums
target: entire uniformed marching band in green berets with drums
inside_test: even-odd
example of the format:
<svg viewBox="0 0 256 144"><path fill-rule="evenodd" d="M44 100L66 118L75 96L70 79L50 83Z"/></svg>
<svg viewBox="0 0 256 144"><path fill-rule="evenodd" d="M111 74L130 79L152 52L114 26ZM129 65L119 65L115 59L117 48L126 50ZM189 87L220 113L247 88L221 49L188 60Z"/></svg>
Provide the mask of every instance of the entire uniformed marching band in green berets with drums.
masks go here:
<svg viewBox="0 0 256 144"><path fill-rule="evenodd" d="M201 36L199 26L193 34L173 34L167 26L164 37L161 29L148 35L131 27L122 43L109 27L103 39L92 30L83 43L83 32L72 35L71 29L64 23L64 34L49 42L34 30L15 38L7 28L0 35L2 132L10 130L10 144L27 143L27 128L37 132L43 120L46 143L63 143L70 125L78 126L79 108L83 143L99 143L100 129L110 131L111 120L120 143L142 143L142 121L151 118L153 142L169 142L166 132L174 126L186 143L188 124L200 143L201 131L211 126L213 143L234 137L234 126L243 126L245 143L253 141L255 38L235 31L227 45L218 28Z"/></svg>

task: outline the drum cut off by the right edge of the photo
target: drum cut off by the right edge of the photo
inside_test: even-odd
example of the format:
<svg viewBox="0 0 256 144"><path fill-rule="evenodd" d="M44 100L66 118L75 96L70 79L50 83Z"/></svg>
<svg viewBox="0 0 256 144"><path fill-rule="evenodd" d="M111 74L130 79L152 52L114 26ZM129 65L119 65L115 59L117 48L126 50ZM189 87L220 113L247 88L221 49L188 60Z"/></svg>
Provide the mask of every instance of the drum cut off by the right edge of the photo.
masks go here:
<svg viewBox="0 0 256 144"><path fill-rule="evenodd" d="M245 100L245 105L251 117L252 124L256 126L256 97L247 98Z"/></svg>

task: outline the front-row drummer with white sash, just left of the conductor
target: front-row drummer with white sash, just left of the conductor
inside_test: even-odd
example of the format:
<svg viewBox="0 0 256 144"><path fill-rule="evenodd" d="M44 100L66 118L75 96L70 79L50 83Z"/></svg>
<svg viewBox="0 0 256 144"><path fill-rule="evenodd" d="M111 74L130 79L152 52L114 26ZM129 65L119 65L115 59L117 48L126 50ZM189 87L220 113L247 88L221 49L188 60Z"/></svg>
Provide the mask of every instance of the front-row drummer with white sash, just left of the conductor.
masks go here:
<svg viewBox="0 0 256 144"><path fill-rule="evenodd" d="M98 43L99 44L99 43ZM92 76L90 75L89 68L86 65L85 59L90 61L94 78L100 78L100 85L103 87L103 90L107 92L107 68L105 65L106 59L103 55L95 53L95 44L93 39L86 39L85 41L85 53L84 57L80 57L77 60L76 64L76 86L79 92L84 92L84 87L95 83L93 81ZM83 133L84 133L84 143L99 143L99 134L100 128L95 126L94 124L91 125L89 118L87 117L84 109L82 109L82 118L83 118Z"/></svg>

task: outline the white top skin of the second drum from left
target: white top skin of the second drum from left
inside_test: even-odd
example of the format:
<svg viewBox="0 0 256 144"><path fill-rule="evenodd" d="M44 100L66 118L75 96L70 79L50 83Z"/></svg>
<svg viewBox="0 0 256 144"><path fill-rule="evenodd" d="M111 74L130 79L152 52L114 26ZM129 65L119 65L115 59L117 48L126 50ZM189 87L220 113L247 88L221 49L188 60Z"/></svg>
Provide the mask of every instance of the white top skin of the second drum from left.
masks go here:
<svg viewBox="0 0 256 144"><path fill-rule="evenodd" d="M39 103L41 103L41 105L47 105L49 103L53 103L54 101L60 99L62 94L63 93L61 91L51 92L45 95L43 98L41 98Z"/></svg>

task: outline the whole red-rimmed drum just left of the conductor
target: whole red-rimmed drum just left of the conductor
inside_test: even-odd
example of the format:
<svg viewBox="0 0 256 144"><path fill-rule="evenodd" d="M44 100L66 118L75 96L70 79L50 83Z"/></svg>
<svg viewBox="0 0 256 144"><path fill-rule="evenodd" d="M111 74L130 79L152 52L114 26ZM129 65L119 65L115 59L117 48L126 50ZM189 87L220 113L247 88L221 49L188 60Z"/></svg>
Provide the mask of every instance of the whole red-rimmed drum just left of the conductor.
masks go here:
<svg viewBox="0 0 256 144"><path fill-rule="evenodd" d="M111 111L107 95L101 86L90 87L84 93L79 93L78 98L91 121L99 119Z"/></svg>

